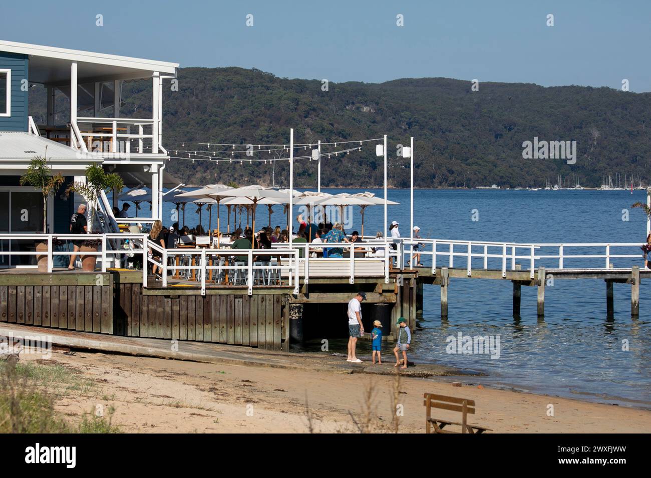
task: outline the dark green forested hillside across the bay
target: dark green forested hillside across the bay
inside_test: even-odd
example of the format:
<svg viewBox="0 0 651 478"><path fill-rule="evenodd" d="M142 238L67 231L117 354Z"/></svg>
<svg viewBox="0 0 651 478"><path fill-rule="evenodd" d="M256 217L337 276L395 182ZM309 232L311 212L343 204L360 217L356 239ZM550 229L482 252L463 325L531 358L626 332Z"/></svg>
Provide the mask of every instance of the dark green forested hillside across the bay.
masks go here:
<svg viewBox="0 0 651 478"><path fill-rule="evenodd" d="M611 88L544 88L522 83L480 83L445 78L399 79L381 84L283 79L242 68L182 68L178 91L165 82L163 146L192 150L188 142L297 143L378 138L389 135L389 181L409 184L409 161L397 144L415 137L415 184L419 187L542 186L557 174L578 174L598 186L603 174L651 181L651 94ZM123 116L150 114L150 81L124 85ZM523 159L525 140L575 140L577 161ZM182 146L186 144L186 146ZM324 152L342 149L332 146ZM301 150L302 151L302 150ZM307 153L304 151L303 153ZM242 155L240 155L242 156ZM256 150L255 157L268 158ZM297 161L296 185L316 184L316 165ZM275 170L288 181L287 163ZM271 165L219 165L172 160L169 172L187 183L271 183ZM361 152L324 159L322 183L371 187L383 181L374 143Z"/></svg>

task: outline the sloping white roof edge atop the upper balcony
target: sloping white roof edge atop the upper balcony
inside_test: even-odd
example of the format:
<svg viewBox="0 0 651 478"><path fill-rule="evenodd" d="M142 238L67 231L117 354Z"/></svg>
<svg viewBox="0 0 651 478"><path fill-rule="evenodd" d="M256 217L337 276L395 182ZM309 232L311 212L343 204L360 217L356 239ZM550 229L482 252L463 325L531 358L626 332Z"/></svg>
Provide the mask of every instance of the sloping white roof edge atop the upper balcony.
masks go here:
<svg viewBox="0 0 651 478"><path fill-rule="evenodd" d="M9 53L21 53L23 55L36 55L37 57L59 58L87 63L101 63L124 68L136 68L150 72L176 73L178 63L146 60L142 58L120 57L119 55L108 55L106 53L94 53L92 51L71 50L53 46L31 45L27 43L9 42L0 40L0 51Z"/></svg>

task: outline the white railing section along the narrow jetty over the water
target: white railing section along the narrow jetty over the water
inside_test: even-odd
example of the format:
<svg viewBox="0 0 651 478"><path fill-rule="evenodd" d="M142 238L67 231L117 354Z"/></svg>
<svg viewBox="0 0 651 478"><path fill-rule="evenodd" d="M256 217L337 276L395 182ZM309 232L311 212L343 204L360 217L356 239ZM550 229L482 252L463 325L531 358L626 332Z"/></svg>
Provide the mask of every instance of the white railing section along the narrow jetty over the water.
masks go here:
<svg viewBox="0 0 651 478"><path fill-rule="evenodd" d="M460 262L468 276L473 269L501 269L506 277L506 271L516 270L519 264L534 278L534 271L540 266L547 271L630 269L640 265L642 259L640 243L523 244L409 238L393 239L393 243L409 269L417 266L416 254L431 258L427 267L432 268L432 274L436 274L436 267L451 269Z"/></svg>

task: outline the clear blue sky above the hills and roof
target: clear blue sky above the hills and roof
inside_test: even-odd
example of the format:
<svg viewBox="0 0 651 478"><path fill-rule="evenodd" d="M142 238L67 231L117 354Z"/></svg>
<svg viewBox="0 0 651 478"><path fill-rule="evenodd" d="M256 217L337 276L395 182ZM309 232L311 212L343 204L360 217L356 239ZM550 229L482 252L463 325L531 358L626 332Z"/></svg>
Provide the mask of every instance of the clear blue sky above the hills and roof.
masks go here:
<svg viewBox="0 0 651 478"><path fill-rule="evenodd" d="M335 82L451 77L620 88L626 78L637 92L651 91L649 25L651 2L635 0L4 0L0 7L4 40L181 66Z"/></svg>

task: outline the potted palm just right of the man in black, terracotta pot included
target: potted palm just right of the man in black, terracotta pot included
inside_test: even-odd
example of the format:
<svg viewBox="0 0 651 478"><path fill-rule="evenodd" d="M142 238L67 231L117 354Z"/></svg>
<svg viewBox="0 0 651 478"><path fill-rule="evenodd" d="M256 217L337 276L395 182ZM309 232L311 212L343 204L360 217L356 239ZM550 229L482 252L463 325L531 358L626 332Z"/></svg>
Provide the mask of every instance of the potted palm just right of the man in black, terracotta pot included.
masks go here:
<svg viewBox="0 0 651 478"><path fill-rule="evenodd" d="M88 203L90 209L89 230L92 234L101 234L104 230L104 224L100 222L100 217L97 215L98 199L102 191L107 193L115 189L122 191L124 188L124 181L118 174L107 173L100 165L90 165L86 168L86 182L74 182L68 189L66 195L70 193L81 194ZM83 271L92 272L95 270L95 263L97 256L94 254L83 254L84 252L97 252L98 247L102 241L100 239L87 239L81 243L79 251L81 252L81 269Z"/></svg>

